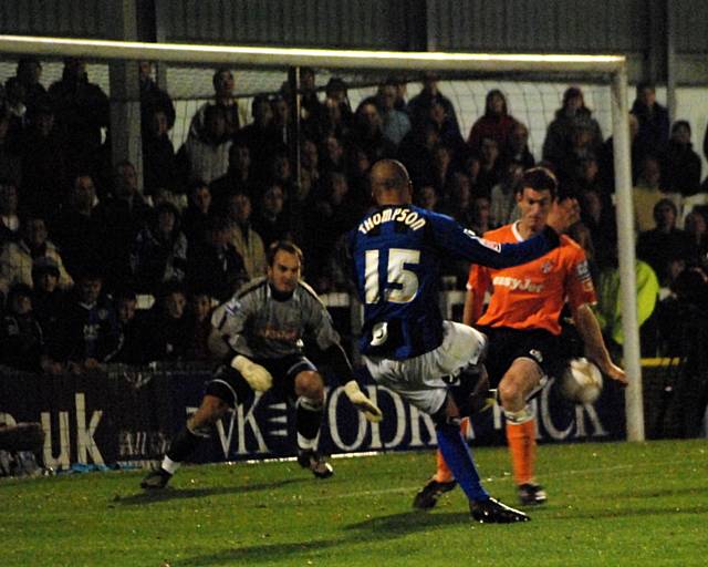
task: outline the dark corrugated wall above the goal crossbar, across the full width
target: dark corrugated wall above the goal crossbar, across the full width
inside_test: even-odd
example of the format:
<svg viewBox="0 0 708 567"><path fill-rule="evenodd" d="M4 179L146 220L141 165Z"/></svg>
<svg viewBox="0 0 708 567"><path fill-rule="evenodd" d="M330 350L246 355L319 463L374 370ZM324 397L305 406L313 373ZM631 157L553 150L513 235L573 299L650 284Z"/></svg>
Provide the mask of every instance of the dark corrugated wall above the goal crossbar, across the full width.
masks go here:
<svg viewBox="0 0 708 567"><path fill-rule="evenodd" d="M157 6L158 33L166 41L635 54L657 45L660 51L665 41L666 0L135 1L138 14ZM122 0L0 0L0 32L111 38L111 14L121 6ZM708 53L708 1L668 6L676 52Z"/></svg>

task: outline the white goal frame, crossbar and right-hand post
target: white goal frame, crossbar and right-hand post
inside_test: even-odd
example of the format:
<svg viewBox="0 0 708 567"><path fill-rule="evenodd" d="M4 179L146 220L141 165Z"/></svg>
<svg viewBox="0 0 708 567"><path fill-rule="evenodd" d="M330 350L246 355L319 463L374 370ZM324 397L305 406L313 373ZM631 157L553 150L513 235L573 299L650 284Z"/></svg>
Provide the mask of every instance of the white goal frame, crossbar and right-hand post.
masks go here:
<svg viewBox="0 0 708 567"><path fill-rule="evenodd" d="M485 75L593 75L610 84L617 208L621 300L623 305L627 440L643 441L644 413L637 324L634 214L626 59L622 55L389 52L143 43L108 40L0 35L0 53L45 58L158 61L242 68L331 68L388 71L448 71Z"/></svg>

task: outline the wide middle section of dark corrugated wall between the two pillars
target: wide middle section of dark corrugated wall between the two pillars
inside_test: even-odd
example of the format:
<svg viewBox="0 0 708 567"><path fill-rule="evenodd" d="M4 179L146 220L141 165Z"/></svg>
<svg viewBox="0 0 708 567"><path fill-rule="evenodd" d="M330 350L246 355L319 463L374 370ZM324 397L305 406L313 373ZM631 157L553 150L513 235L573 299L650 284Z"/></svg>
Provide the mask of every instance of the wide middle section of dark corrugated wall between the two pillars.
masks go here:
<svg viewBox="0 0 708 567"><path fill-rule="evenodd" d="M437 50L641 52L649 42L646 0L156 1L168 41L405 50L427 23Z"/></svg>

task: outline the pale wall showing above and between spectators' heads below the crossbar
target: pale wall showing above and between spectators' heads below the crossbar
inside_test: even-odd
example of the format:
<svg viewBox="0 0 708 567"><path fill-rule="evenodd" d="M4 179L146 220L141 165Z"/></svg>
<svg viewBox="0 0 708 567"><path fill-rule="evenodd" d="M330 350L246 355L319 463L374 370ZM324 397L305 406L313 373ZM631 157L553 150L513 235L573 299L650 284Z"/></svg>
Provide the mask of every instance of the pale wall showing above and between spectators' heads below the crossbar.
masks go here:
<svg viewBox="0 0 708 567"><path fill-rule="evenodd" d="M17 61L6 58L0 61L0 81L4 81L14 75ZM179 118L170 137L176 146L179 146L187 137L188 122L196 110L209 101L212 93L211 75L212 66L186 68L167 65L166 87L178 109ZM110 94L108 65L104 63L91 63L87 65L88 78L97 83ZM395 70L392 70L395 72ZM44 61L42 83L49 86L52 82L61 79L62 64L59 61ZM246 105L250 107L250 97L257 93L274 93L287 80L287 73L280 70L237 70L236 89L237 95L247 100ZM383 78L382 73L377 73ZM347 71L317 70L317 85L326 84L331 76L343 76L351 84L372 83L372 73L352 73ZM553 118L553 113L560 105L563 91L570 84L577 84L585 94L586 104L593 110L595 118L600 122L603 134L611 134L611 110L608 90L596 83L584 81L570 83L568 81L552 80L552 78L539 75L539 80L533 81L510 81L510 80L469 80L469 81L442 81L441 90L452 100L456 106L460 127L464 134L469 130L482 113L485 107L485 96L491 89L500 89L509 99L511 114L527 124L530 131L530 146L537 158L540 158L540 151L545 136L545 128ZM412 80L408 86L408 94L417 94L420 85ZM350 97L355 106L365 96L375 92L375 86L353 87L350 90ZM677 112L678 120L688 121L694 128L694 143L698 145L700 136L708 127L708 93L707 87L681 87L677 89ZM634 91L629 90L631 101L634 99ZM666 101L666 89L657 87L659 101ZM187 124L186 124L187 123ZM708 172L708 162L701 155L704 171Z"/></svg>

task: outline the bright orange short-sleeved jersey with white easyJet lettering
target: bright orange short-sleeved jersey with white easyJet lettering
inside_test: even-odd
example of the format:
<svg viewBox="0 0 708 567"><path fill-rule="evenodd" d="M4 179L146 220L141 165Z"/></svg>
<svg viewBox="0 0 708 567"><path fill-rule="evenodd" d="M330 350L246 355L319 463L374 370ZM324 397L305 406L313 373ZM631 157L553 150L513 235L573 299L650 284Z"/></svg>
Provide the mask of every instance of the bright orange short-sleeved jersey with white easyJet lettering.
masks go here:
<svg viewBox="0 0 708 567"><path fill-rule="evenodd" d="M523 240L516 223L490 230L485 238L502 244ZM490 288L489 307L477 320L488 327L545 329L560 334L559 318L566 300L572 308L596 301L585 252L564 235L558 248L521 266L492 269L472 265L467 289L473 292L476 312Z"/></svg>

